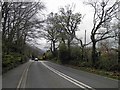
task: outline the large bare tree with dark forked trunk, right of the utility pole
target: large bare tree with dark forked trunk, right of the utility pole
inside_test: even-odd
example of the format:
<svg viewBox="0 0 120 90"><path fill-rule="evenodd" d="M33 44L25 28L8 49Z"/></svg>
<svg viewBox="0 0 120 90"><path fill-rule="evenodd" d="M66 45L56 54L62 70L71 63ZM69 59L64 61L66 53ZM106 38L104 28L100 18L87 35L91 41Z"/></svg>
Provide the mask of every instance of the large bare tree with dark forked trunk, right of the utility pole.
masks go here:
<svg viewBox="0 0 120 90"><path fill-rule="evenodd" d="M113 38L114 35L109 35L113 30L104 26L106 23L112 21L115 17L115 14L118 12L118 1L109 5L110 0L102 0L102 2L92 1L87 4L94 8L94 16L93 16L93 28L91 31L91 41L92 41L92 62L93 66L97 60L97 51L96 51L96 43L107 39ZM101 27L104 27L103 32L98 32ZM99 35L99 38L97 37Z"/></svg>

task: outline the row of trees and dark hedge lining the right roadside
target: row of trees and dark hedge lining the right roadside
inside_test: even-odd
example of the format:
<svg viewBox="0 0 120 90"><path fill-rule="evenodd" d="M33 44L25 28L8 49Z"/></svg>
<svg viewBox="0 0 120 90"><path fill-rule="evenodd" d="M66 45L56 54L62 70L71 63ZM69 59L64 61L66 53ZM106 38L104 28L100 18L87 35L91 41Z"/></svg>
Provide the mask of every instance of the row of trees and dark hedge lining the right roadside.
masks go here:
<svg viewBox="0 0 120 90"><path fill-rule="evenodd" d="M86 3L94 9L89 43L86 41L84 43L76 36L83 18L81 13L74 13L74 6L68 5L60 8L58 13L50 13L42 32L43 37L51 44L50 50L46 52L46 58L62 64L118 72L120 70L118 3L116 1L111 6L105 0L101 3L97 1ZM118 23L114 23L113 20Z"/></svg>

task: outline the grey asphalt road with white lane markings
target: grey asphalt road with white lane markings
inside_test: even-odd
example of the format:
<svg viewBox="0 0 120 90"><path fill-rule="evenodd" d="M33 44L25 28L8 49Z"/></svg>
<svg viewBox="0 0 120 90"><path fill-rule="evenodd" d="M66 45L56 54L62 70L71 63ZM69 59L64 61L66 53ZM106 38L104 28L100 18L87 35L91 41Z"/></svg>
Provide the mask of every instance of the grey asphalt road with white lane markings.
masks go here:
<svg viewBox="0 0 120 90"><path fill-rule="evenodd" d="M79 88L118 90L118 80L72 69L49 61L29 61L5 73L3 88Z"/></svg>

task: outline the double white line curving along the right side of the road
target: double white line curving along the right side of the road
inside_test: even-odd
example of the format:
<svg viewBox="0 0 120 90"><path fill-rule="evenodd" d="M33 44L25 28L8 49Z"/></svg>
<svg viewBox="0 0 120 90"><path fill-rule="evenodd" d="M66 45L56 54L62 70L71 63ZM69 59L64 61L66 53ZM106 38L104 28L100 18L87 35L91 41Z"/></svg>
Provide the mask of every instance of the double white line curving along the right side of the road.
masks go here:
<svg viewBox="0 0 120 90"><path fill-rule="evenodd" d="M84 83L82 83L82 82L80 82L80 81L78 81L78 80L76 80L76 79L68 76L68 75L65 75L65 74L63 74L62 72L60 72L60 71L58 71L58 70L56 70L56 69L54 69L54 68L52 68L52 67L50 67L50 66L48 66L48 65L46 65L46 64L44 63L44 61L41 61L41 63L42 63L46 68L48 68L49 70L53 71L54 73L56 73L57 75L63 77L64 79L70 81L71 83L77 85L78 87L83 88L83 89L85 89L85 90L89 90L89 89L95 90L95 89L93 89L92 87L90 87L90 86L88 86L88 85L86 85L86 84L84 84Z"/></svg>

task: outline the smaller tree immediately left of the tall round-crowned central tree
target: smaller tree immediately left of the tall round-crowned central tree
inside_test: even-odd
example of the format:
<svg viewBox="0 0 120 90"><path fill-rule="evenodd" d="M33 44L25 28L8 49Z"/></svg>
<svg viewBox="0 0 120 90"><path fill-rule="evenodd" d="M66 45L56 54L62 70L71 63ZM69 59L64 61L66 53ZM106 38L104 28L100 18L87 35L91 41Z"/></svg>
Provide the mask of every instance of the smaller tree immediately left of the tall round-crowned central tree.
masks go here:
<svg viewBox="0 0 120 90"><path fill-rule="evenodd" d="M58 37L59 37L59 32L58 32L59 27L58 27L56 20L57 20L56 14L51 12L47 17L46 26L41 33L41 36L43 38L45 38L46 40L51 42L50 50L54 56L56 55L56 45L55 44L58 41Z"/></svg>

